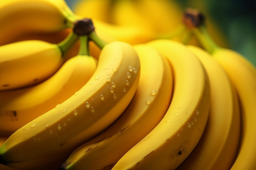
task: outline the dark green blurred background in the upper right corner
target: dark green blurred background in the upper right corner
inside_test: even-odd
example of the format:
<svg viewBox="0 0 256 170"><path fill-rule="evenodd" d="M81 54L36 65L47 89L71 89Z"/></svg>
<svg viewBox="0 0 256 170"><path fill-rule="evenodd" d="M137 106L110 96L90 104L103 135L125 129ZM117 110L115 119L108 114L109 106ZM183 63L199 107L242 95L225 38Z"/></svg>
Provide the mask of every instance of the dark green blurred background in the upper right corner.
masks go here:
<svg viewBox="0 0 256 170"><path fill-rule="evenodd" d="M77 1L66 0L71 9ZM176 1L184 9L199 9L211 17L225 35L229 48L238 51L256 66L256 0Z"/></svg>

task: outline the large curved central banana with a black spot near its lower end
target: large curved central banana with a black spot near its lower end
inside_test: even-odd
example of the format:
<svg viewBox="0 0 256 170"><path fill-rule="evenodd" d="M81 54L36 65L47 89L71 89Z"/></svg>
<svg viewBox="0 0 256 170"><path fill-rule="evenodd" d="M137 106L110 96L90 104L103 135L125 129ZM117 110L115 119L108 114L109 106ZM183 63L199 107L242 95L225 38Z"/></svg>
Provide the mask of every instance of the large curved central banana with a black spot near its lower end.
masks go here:
<svg viewBox="0 0 256 170"><path fill-rule="evenodd" d="M171 40L147 44L171 63L173 97L159 124L126 152L112 170L175 169L198 143L207 123L209 80L198 58L186 46Z"/></svg>

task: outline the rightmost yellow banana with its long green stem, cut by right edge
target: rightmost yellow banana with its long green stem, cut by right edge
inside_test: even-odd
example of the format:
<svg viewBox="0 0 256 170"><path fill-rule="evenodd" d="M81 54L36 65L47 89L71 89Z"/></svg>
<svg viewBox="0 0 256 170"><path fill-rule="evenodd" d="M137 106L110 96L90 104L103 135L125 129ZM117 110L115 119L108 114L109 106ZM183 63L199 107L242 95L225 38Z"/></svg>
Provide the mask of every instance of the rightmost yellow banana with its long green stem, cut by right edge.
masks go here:
<svg viewBox="0 0 256 170"><path fill-rule="evenodd" d="M191 15L196 18L197 15ZM218 46L210 37L202 22L197 26L191 22L191 31L202 46L224 68L241 106L242 136L238 156L231 170L254 170L256 168L256 68L244 56L236 51Z"/></svg>

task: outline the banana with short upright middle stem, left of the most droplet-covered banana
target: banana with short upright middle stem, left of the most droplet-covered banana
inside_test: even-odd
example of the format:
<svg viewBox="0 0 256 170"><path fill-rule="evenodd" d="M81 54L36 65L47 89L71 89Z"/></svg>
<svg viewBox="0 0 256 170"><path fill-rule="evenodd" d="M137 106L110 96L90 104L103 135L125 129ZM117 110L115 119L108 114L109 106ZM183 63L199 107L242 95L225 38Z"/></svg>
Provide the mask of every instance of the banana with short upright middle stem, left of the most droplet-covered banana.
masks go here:
<svg viewBox="0 0 256 170"><path fill-rule="evenodd" d="M35 86L0 92L0 133L11 135L64 102L88 82L97 61L88 55L86 36L80 36L80 39L79 55L67 60L49 79Z"/></svg>

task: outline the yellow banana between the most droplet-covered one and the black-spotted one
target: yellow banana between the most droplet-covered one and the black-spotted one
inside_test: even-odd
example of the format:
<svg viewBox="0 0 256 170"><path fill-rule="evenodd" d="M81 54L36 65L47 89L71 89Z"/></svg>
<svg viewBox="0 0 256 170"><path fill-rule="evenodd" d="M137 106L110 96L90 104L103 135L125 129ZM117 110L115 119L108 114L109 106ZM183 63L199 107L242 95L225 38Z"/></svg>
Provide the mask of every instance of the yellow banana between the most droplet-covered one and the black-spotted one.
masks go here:
<svg viewBox="0 0 256 170"><path fill-rule="evenodd" d="M135 96L117 121L100 135L76 148L61 170L111 169L164 116L173 90L170 65L150 46L140 44L134 48L141 63Z"/></svg>

